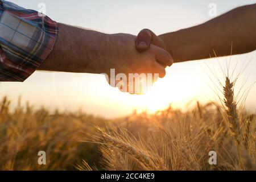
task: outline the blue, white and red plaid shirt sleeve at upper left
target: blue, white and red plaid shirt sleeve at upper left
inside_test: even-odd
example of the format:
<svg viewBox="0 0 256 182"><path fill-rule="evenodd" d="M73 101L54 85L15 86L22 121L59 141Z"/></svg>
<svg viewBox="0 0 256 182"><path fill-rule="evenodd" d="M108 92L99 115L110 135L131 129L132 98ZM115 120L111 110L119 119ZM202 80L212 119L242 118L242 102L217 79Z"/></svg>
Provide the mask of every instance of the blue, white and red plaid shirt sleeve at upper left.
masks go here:
<svg viewBox="0 0 256 182"><path fill-rule="evenodd" d="M0 81L24 81L55 44L57 23L34 10L0 1Z"/></svg>

